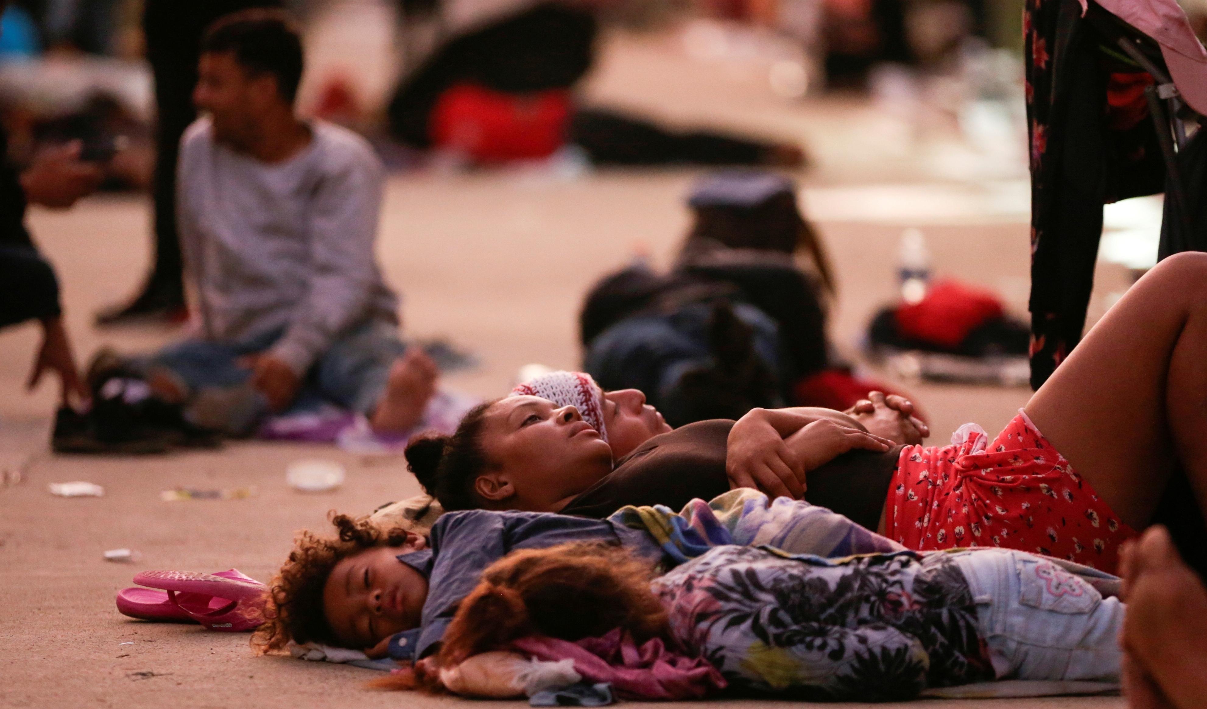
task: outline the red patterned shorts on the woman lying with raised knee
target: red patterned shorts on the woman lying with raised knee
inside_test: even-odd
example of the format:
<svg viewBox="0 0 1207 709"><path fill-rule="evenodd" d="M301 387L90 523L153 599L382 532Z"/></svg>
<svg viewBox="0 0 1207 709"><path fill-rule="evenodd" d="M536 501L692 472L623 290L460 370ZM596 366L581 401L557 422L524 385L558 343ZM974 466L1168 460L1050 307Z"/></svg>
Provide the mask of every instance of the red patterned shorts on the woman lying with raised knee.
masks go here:
<svg viewBox="0 0 1207 709"><path fill-rule="evenodd" d="M885 534L911 550L998 546L1113 574L1136 536L1022 412L992 443L968 424L950 446L903 448L888 502Z"/></svg>

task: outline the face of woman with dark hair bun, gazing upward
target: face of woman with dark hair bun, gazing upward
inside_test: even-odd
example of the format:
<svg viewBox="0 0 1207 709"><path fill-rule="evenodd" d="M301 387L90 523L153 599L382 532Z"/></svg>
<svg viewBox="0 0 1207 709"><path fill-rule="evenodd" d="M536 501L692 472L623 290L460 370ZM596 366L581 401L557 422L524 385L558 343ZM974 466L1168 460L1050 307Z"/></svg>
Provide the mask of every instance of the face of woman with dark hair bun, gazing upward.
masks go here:
<svg viewBox="0 0 1207 709"><path fill-rule="evenodd" d="M556 512L612 472L612 448L578 409L536 396L495 403L480 446L490 464L474 490L503 508Z"/></svg>

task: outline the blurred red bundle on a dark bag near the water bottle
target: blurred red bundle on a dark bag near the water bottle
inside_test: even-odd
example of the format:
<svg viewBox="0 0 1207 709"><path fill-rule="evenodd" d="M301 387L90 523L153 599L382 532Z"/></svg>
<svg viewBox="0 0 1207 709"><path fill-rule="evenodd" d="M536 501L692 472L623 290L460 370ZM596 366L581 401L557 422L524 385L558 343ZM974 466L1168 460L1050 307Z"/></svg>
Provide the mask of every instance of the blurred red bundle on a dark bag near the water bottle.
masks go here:
<svg viewBox="0 0 1207 709"><path fill-rule="evenodd" d="M1004 314L1002 301L993 294L943 280L931 286L920 302L897 307L897 333L954 350L973 329Z"/></svg>

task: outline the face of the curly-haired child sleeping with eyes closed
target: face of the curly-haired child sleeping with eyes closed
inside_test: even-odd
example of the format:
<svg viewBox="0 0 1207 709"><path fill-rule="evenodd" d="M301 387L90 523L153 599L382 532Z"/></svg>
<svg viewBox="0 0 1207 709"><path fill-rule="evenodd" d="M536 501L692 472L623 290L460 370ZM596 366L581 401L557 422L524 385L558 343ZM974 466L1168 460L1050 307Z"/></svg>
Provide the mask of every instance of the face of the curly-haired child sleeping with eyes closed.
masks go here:
<svg viewBox="0 0 1207 709"><path fill-rule="evenodd" d="M424 537L408 535L402 546L368 548L336 564L322 589L322 608L345 647L373 647L419 627L427 579L397 557L424 546Z"/></svg>

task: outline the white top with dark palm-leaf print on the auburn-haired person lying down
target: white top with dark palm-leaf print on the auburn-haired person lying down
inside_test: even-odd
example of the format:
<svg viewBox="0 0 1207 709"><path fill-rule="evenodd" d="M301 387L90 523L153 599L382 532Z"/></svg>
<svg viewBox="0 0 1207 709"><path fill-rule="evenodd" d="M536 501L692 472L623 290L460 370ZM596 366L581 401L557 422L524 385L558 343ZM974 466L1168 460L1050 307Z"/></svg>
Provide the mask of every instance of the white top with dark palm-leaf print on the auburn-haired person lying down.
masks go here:
<svg viewBox="0 0 1207 709"><path fill-rule="evenodd" d="M652 587L675 638L736 688L893 701L995 676L947 554L824 559L724 546Z"/></svg>

